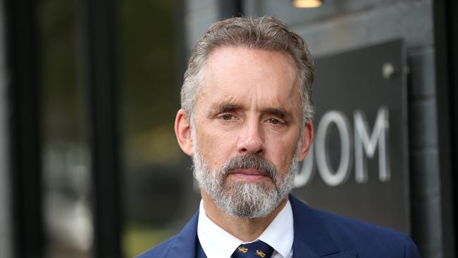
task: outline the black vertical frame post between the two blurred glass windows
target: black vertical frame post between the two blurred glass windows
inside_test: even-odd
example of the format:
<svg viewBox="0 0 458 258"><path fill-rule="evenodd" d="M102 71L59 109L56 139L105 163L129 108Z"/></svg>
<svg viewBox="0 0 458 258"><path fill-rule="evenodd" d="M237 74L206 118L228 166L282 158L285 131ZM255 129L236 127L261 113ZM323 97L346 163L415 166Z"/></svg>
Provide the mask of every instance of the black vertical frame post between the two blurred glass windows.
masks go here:
<svg viewBox="0 0 458 258"><path fill-rule="evenodd" d="M115 1L86 0L85 91L94 214L94 257L122 257Z"/></svg>

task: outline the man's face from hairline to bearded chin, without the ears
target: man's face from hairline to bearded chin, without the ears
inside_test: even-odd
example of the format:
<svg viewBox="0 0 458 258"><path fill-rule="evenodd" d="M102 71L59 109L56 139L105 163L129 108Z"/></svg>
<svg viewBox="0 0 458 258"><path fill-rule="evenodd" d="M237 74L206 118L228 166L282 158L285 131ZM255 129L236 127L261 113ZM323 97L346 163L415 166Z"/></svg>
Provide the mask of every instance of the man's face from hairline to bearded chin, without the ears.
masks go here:
<svg viewBox="0 0 458 258"><path fill-rule="evenodd" d="M268 215L291 190L297 161L307 154L298 145L302 108L292 57L242 47L217 49L203 68L193 126L195 173L204 191L219 206L234 195L242 208L262 202L263 196L276 199L270 203L275 207L257 216ZM234 215L253 217L244 213Z"/></svg>

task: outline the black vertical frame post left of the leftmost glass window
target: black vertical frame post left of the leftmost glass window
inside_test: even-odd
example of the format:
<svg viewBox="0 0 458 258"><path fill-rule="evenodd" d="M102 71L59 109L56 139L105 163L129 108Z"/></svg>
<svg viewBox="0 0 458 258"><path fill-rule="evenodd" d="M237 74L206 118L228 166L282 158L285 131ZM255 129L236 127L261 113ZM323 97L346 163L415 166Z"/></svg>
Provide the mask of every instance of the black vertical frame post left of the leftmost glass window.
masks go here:
<svg viewBox="0 0 458 258"><path fill-rule="evenodd" d="M7 0L13 256L42 257L42 155L36 4Z"/></svg>

